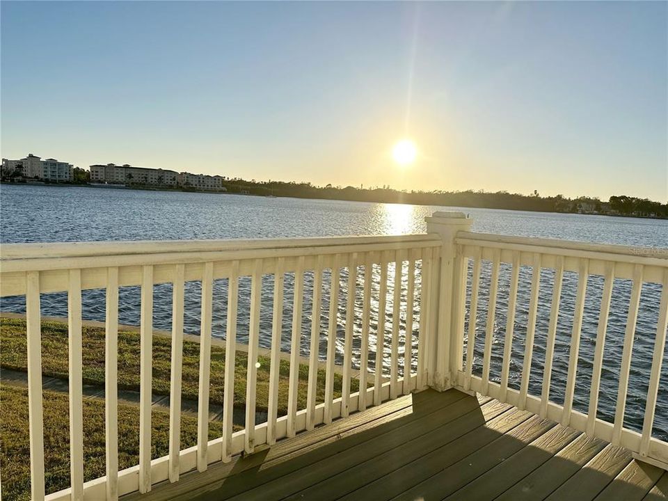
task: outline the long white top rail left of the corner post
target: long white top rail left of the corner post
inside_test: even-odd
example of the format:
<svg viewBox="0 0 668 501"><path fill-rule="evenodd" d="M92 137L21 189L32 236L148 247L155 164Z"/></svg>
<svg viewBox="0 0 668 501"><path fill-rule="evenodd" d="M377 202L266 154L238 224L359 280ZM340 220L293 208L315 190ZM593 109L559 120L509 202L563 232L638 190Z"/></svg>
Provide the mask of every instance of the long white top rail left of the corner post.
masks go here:
<svg viewBox="0 0 668 501"><path fill-rule="evenodd" d="M435 244L438 243L438 236L420 233L287 239L40 242L34 244L2 244L0 246L0 261L257 249L332 248L365 244L410 244L431 241L434 241Z"/></svg>

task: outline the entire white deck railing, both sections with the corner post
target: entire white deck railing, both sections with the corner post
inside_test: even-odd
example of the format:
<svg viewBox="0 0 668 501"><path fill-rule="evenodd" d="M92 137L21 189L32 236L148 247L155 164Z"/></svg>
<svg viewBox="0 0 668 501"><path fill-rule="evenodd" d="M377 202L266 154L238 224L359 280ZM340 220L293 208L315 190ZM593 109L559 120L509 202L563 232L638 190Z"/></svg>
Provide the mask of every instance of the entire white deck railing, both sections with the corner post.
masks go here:
<svg viewBox="0 0 668 501"><path fill-rule="evenodd" d="M158 482L177 482L184 472L202 472L212 463L230 461L234 454L252 453L259 445L272 445L281 438L427 386L489 395L623 445L639 458L665 467L668 443L653 437L652 429L668 321L668 250L477 234L469 232L471 223L463 214L436 213L427 218L428 234L401 237L4 245L0 296L26 298L33 499L45 498L40 294L50 292L68 293L72 440L71 486L47 495L49 500L81 499L84 495L113 500L135 491L145 493ZM564 286L564 276L569 273L577 277L572 315L560 310L562 292L568 289ZM262 287L262 277L267 275L273 276L271 289ZM239 287L242 277L250 278L250 287L243 290ZM580 340L585 312L591 309L591 301L587 301L588 283L596 285L601 277L603 287L601 301L596 303L598 326L590 370L591 398L586 409L578 410L574 402L577 403L576 383L583 375L578 365L582 359ZM228 291L225 387L229 384L229 388L234 388L237 322L239 315L248 315L246 427L233 431L234 392L225 391L224 433L209 440L212 294L216 281L221 279L226 280ZM541 294L541 283L546 279L551 287ZM614 416L605 417L600 416L598 408L601 371L607 363L604 354L611 301L624 300L615 295L615 280L620 279L632 283L622 328ZM198 439L194 447L182 449L180 376L187 292L184 284L191 281L201 284L202 297ZM310 309L304 311L306 282L312 298ZM164 283L172 284L173 290L169 452L164 457L152 458L152 308L154 285ZM642 287L647 283L653 284L657 293L660 289L660 303L655 308L644 422L638 432L625 425L624 417L637 315L642 305ZM139 458L136 466L121 471L118 471L116 368L119 287L141 288ZM86 289L106 290L106 475L88 482L84 479L81 440L81 294ZM525 290L528 294L524 294ZM244 294L249 297L244 298ZM261 332L260 307L262 298L268 294L273 303L271 332ZM292 304L286 301L286 296L292 298ZM340 296L345 296L345 305L340 304ZM239 299L248 299L248 311L241 311ZM329 307L326 328L321 326L321 303ZM479 315L480 305L486 305L482 315ZM541 315L547 305L549 312ZM522 315L516 315L516 311ZM278 416L278 368L285 312L292 315L287 332L289 394L287 415ZM527 320L518 331L516 321L524 312ZM304 331L303 320L308 315L310 328ZM558 328L559 319L564 317L572 318L566 340L559 338L563 333ZM265 339L271 337L269 401L267 421L253 426L261 335ZM562 344L557 344L557 339L566 345L566 353L559 351ZM319 350L321 340L325 341L326 353ZM496 353L501 341L502 353ZM536 349L543 349L539 342L544 342L541 357L536 356ZM515 353L513 348L518 344L520 349ZM540 362L538 365L536 360ZM565 360L568 364L562 378L564 392L559 395L552 391L555 387L552 380L555 367ZM299 365L305 361L307 396L305 408L300 409ZM323 361L324 401L318 403L317 370ZM359 369L358 392L351 392L353 368ZM342 374L342 387L341 396L335 398L337 371Z"/></svg>

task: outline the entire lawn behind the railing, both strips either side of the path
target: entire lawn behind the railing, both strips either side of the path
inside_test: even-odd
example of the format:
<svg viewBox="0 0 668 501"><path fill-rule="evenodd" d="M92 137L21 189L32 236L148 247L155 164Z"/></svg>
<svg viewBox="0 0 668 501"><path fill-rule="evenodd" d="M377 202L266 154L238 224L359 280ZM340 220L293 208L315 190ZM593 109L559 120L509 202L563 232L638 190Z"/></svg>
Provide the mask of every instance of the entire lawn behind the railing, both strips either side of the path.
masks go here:
<svg viewBox="0 0 668 501"><path fill-rule="evenodd" d="M118 333L118 387L139 390L139 334ZM171 340L153 336L152 391L169 395ZM183 343L182 398L197 400L199 385L200 344ZM104 329L83 328L84 383L104 385ZM26 372L26 322L24 319L0 318L0 367ZM67 324L42 321L42 374L67 379ZM234 361L234 406L246 406L247 355L237 352ZM270 360L258 358L257 409L267 410L269 397ZM225 349L212 346L209 401L222 404L225 392ZM287 409L289 363L280 361L278 415ZM318 371L317 401L324 399L324 370ZM334 375L334 396L341 395L342 377ZM308 365L299 365L298 407L305 408ZM351 392L357 391L359 381L351 380ZM65 393L44 391L45 424L45 481L47 493L70 486L69 404ZM182 449L196 444L197 420L181 417ZM119 468L138 463L138 406L118 406ZM168 453L169 415L154 409L152 412L152 457ZM209 438L222 434L222 423L209 424ZM84 475L86 480L105 474L104 400L84 400ZM28 431L27 390L0 385L0 470L2 471L3 500L30 498L30 453Z"/></svg>

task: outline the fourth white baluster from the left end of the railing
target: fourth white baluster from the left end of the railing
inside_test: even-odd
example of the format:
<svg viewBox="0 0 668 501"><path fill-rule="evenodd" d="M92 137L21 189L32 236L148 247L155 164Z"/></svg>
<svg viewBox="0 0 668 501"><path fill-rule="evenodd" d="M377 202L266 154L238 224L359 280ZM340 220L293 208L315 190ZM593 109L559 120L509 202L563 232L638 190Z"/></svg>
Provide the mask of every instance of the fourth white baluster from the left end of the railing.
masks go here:
<svg viewBox="0 0 668 501"><path fill-rule="evenodd" d="M139 367L139 492L151 490L151 405L153 351L153 267L141 267Z"/></svg>

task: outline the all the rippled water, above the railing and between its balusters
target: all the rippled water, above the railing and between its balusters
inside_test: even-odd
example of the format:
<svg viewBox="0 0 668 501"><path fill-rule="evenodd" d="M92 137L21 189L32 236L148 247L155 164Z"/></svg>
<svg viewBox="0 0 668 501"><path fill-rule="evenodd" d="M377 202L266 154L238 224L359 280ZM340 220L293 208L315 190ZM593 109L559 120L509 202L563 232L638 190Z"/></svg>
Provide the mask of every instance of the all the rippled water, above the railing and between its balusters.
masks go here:
<svg viewBox="0 0 668 501"><path fill-rule="evenodd" d="M350 234L407 234L424 232L424 216L447 207L412 205L385 205L366 202L342 202L335 200L301 200L296 198L260 198L252 196L219 195L208 193L168 193L158 191L134 191L116 189L94 189L81 187L49 186L1 186L0 191L1 232L0 241L92 241L92 240L151 240L151 239L230 239L269 237L315 237ZM460 209L474 219L475 232L509 234L526 237L544 237L568 240L593 241L629 246L668 247L668 221L649 219L615 218L607 216L584 216L576 214L548 214L537 212L515 212L493 209ZM484 263L476 324L474 372L482 371L482 351L486 328L488 284L491 267ZM404 270L404 273L406 270ZM386 335L392 324L389 314L392 306L392 283L394 271L390 267L388 287L388 314ZM530 392L540 394L546 346L546 331L549 318L553 271L543 269L541 273L539 315L536 324L534 355L530 377ZM374 269L376 280L379 269ZM358 276L356 313L361 308L362 273ZM510 269L502 265L500 272L497 315L493 328L493 357L491 377L498 381L503 352L503 340L507 318L507 299ZM523 268L520 273L520 292L516 310L514 343L511 359L511 387L518 388L523 362L524 336L526 332L531 271ZM324 273L323 303L321 309L320 353L326 349L328 319L328 294L331 277ZM286 292L283 308L284 349L289 349L289 331L292 318L292 285L294 276L285 277ZM342 271L341 294L337 309L337 348L342 349L342 326L345 321L347 299L347 270ZM598 326L598 308L601 302L603 280L590 276L587 285L587 301L584 308L580 360L574 408L586 412L589 402L591 367L594 358L594 342ZM420 267L417 267L417 290L420 287ZM557 343L552 372L550 398L562 401L568 371L575 291L578 280L574 273L565 273L561 297ZM261 339L263 347L269 347L271 332L271 290L273 279L263 280L261 307ZM469 285L470 289L470 285ZM406 281L401 284L402 295L406 294ZM239 285L239 333L241 341L248 336L248 307L250 281L241 278ZM303 353L308 353L312 295L312 274L305 276L304 319L302 325ZM374 295L377 298L378 284ZM598 416L611 420L614 416L614 401L617 395L617 374L621 360L623 333L626 328L626 311L630 296L628 280L616 280L613 289L610 321L605 344L605 357L599 396ZM637 320L633 349L630 384L628 390L626 424L633 429L642 428L644 399L649 383L649 370L653 351L655 325L658 316L660 287L646 284L642 289L641 308ZM216 280L214 285L214 335L225 336L227 280ZM136 287L123 287L120 291L120 322L138 325L139 292ZM185 330L199 331L200 285L186 284ZM377 318L378 303L372 304L372 317ZM0 305L3 311L24 312L23 298L4 298ZM469 313L466 313L468 326ZM65 317L67 301L65 294L42 296L42 314ZM419 308L414 307L415 323L408 329L411 344L417 337ZM84 317L104 319L104 291L84 292ZM401 315L401 332L406 327L405 314ZM169 329L171 322L171 287L155 287L154 326ZM374 351L376 340L375 322L369 340ZM361 326L359 318L355 326L353 351L360 349ZM401 338L403 345L404 339ZM389 353L385 343L385 354ZM403 347L400 349L403 353ZM666 358L666 357L664 357ZM415 360L412 360L413 365ZM402 360L400 359L400 365ZM373 360L369 361L373 367ZM385 367L386 368L386 367ZM655 418L654 435L668 438L668 363L665 361L659 388L659 403Z"/></svg>

